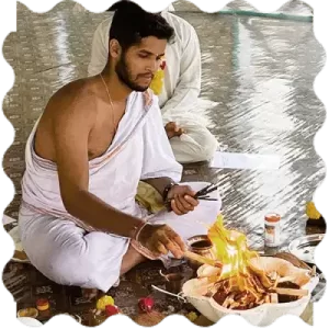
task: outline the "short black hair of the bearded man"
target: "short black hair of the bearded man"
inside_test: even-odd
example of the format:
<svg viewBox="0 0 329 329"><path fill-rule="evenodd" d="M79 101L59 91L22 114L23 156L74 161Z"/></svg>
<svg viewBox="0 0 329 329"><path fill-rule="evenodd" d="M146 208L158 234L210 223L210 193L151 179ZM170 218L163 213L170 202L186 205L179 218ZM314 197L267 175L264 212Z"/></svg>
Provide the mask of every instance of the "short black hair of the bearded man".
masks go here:
<svg viewBox="0 0 329 329"><path fill-rule="evenodd" d="M117 39L123 50L140 43L141 38L155 36L171 42L174 30L160 12L145 10L134 0L118 0L109 11L115 11L110 27L110 39Z"/></svg>

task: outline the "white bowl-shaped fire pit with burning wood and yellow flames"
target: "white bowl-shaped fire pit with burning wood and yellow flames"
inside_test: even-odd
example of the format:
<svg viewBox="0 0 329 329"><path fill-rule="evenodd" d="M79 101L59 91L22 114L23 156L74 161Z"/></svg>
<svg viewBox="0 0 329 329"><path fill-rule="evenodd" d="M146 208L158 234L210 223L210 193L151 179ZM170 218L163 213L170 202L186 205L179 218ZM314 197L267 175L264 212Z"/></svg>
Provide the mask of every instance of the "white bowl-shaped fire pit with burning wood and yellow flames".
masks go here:
<svg viewBox="0 0 329 329"><path fill-rule="evenodd" d="M254 327L273 325L282 316L300 316L318 277L275 257L259 257L247 238L223 226L223 217L209 228L208 238L222 266L204 264L188 281L182 295L214 322L239 316Z"/></svg>

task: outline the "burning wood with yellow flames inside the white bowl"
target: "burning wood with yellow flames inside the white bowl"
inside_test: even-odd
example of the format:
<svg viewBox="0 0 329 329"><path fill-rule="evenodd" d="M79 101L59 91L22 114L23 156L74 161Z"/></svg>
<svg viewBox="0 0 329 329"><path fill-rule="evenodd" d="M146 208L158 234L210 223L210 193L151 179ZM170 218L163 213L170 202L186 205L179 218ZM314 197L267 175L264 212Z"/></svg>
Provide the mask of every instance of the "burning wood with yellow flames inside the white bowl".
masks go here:
<svg viewBox="0 0 329 329"><path fill-rule="evenodd" d="M259 257L248 250L246 236L224 228L222 218L209 229L220 269L202 265L197 271L198 292L228 309L250 309L263 304L297 300L308 295L302 288L309 282L309 271L288 261Z"/></svg>

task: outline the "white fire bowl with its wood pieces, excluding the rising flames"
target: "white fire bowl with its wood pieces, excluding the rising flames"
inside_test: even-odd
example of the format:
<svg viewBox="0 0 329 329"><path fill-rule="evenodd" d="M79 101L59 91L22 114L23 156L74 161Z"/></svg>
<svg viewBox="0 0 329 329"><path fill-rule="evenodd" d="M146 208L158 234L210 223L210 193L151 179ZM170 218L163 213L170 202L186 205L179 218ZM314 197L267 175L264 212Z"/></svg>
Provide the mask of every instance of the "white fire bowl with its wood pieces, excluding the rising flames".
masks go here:
<svg viewBox="0 0 329 329"><path fill-rule="evenodd" d="M197 277L182 287L182 296L213 322L239 316L249 325L264 328L283 316L298 317L318 283L309 270L274 257L252 259L249 277L220 279L219 271L202 265Z"/></svg>

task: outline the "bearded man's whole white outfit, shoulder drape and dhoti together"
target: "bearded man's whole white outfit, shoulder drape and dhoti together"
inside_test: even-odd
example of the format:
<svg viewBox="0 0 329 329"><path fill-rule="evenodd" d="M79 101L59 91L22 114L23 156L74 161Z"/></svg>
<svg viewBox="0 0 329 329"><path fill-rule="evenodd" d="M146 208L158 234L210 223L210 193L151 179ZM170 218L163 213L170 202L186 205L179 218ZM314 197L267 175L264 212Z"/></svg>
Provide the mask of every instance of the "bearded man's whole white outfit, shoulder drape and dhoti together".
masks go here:
<svg viewBox="0 0 329 329"><path fill-rule="evenodd" d="M120 280L131 239L97 231L66 212L56 164L34 152L35 128L26 144L23 203L19 215L24 251L41 273L58 284L107 292ZM133 93L112 146L103 156L90 161L90 192L124 213L146 218L146 211L135 201L139 180L170 177L179 182L181 172L168 143L157 100L145 106L141 94ZM195 184L198 190L205 183ZM217 193L214 196L218 201L201 201L188 215L161 212L150 220L168 224L183 239L206 234L207 225L216 220L220 211L219 196ZM168 257L163 261L170 265Z"/></svg>

